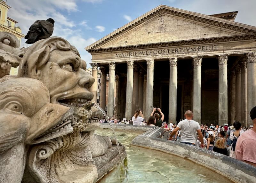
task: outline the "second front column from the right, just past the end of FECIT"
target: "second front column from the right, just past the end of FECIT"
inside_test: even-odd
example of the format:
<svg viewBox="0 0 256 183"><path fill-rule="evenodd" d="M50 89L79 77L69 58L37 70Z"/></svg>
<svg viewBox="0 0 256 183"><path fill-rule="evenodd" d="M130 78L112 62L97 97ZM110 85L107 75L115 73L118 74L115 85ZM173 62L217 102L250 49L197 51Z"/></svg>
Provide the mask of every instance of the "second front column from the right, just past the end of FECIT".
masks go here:
<svg viewBox="0 0 256 183"><path fill-rule="evenodd" d="M219 56L219 125L228 123L228 56Z"/></svg>

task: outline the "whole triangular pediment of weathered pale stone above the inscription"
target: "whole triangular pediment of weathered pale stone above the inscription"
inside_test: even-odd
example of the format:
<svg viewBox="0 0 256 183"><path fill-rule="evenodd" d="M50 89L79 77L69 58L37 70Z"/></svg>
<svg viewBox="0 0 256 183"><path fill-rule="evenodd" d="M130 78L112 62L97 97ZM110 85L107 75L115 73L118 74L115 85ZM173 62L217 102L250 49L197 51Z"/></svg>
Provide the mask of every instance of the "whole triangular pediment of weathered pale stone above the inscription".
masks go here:
<svg viewBox="0 0 256 183"><path fill-rule="evenodd" d="M175 42L256 32L256 27L160 5L86 47L86 50Z"/></svg>

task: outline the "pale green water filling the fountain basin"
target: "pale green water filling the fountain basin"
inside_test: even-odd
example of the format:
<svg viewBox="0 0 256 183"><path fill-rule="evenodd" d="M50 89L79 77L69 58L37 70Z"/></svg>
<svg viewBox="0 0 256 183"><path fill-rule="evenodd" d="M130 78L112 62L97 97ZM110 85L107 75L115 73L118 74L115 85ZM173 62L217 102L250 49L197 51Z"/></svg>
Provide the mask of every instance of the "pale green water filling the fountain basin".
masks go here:
<svg viewBox="0 0 256 183"><path fill-rule="evenodd" d="M115 132L116 138L126 149L127 159L125 160L125 164L127 165L127 177L129 183L231 182L224 176L181 157L157 150L132 146L132 139L142 132L127 130L115 130ZM109 137L113 137L112 132L108 129L98 129L96 133L99 135L108 135ZM99 183L121 182L125 182L121 164L99 181Z"/></svg>

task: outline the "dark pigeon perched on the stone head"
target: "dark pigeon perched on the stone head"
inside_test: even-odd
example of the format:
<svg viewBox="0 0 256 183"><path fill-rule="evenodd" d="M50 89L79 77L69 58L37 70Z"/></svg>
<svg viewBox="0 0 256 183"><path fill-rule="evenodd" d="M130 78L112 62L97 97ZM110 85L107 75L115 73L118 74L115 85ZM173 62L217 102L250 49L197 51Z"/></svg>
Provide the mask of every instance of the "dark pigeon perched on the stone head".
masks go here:
<svg viewBox="0 0 256 183"><path fill-rule="evenodd" d="M35 23L30 26L25 36L25 39L28 39L26 43L33 44L36 41L52 36L53 24L54 20L51 18L47 20L36 20Z"/></svg>

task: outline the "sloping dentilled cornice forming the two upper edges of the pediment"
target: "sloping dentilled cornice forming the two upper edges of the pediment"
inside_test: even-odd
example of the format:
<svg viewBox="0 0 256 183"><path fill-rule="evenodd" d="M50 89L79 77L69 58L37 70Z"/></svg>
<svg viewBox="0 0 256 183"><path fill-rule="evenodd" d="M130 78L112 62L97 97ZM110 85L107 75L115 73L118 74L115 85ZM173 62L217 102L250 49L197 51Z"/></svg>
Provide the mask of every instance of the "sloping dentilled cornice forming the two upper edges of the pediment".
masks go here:
<svg viewBox="0 0 256 183"><path fill-rule="evenodd" d="M85 48L85 50L90 52L90 50L96 49L96 48L108 43L109 41L115 39L118 36L123 35L124 33L131 30L132 28L139 26L140 24L148 21L149 19L155 17L156 15L159 15L160 13L174 15L174 16L177 16L177 17L180 17L183 19L193 20L193 21L205 23L205 24L212 25L212 26L217 26L220 28L229 29L229 30L244 33L244 34L256 33L256 27L253 27L253 26L245 25L242 23L237 23L237 22L234 22L231 20L225 20L225 19L218 18L218 17L213 17L210 15L204 15L204 14L200 14L200 13L189 12L189 11L181 10L178 8L172 8L169 6L160 5L160 6L156 7L155 9L140 16L139 18L133 20L132 22L117 29L113 33L110 33L109 35L103 37L99 41L87 46Z"/></svg>

